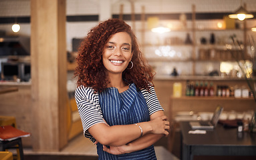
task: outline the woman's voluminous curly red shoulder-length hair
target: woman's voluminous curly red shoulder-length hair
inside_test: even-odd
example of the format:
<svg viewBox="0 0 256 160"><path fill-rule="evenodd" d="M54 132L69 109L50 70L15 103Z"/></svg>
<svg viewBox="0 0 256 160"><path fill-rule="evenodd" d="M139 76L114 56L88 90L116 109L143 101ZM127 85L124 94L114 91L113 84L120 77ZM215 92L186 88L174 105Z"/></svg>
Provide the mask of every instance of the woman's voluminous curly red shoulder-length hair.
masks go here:
<svg viewBox="0 0 256 160"><path fill-rule="evenodd" d="M93 87L98 92L107 88L109 81L102 62L102 52L110 36L118 32L126 32L132 39L134 65L122 73L124 81L127 84L134 83L138 89L149 89L153 85L154 74L142 56L130 25L120 19L108 19L92 28L78 49L78 66L75 71L78 86Z"/></svg>

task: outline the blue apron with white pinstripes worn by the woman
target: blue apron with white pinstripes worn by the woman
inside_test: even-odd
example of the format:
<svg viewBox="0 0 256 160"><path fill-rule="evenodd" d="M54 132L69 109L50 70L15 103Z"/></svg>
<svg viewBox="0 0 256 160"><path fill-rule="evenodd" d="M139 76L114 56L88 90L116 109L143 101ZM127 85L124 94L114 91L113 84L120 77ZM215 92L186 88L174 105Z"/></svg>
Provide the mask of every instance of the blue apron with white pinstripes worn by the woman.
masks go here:
<svg viewBox="0 0 256 160"><path fill-rule="evenodd" d="M146 101L140 91L132 83L128 90L119 93L116 88L108 88L99 94L99 103L104 119L108 125L130 125L149 121L149 112ZM110 159L156 159L154 146L123 155L112 155L102 150L97 144L97 153L100 160Z"/></svg>

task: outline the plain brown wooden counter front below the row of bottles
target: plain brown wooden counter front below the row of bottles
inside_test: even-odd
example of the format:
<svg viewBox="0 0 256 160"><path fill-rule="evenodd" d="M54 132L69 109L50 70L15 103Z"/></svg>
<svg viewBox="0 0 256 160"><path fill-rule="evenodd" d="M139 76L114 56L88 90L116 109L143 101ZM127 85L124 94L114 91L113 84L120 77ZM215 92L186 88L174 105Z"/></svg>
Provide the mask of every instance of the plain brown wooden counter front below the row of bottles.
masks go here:
<svg viewBox="0 0 256 160"><path fill-rule="evenodd" d="M243 113L245 111L254 111L255 101L252 97L172 97L170 96L170 108L168 115L174 119L178 112L193 111L213 112L217 105L221 105L224 111L236 111Z"/></svg>

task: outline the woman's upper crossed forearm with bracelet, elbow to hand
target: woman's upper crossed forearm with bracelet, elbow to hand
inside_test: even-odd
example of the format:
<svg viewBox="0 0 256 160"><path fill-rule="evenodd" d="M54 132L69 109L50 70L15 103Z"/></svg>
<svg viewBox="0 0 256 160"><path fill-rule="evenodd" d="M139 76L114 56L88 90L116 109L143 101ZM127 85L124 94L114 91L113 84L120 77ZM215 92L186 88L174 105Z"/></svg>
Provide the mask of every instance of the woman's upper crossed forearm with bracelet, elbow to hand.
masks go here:
<svg viewBox="0 0 256 160"><path fill-rule="evenodd" d="M166 117L163 116L152 121L138 123L138 125L114 125L111 127L104 123L98 123L88 131L102 145L121 146L138 139L141 135L141 129L143 131L142 135L146 135L147 133L168 135L166 129L169 128L169 124L165 119Z"/></svg>

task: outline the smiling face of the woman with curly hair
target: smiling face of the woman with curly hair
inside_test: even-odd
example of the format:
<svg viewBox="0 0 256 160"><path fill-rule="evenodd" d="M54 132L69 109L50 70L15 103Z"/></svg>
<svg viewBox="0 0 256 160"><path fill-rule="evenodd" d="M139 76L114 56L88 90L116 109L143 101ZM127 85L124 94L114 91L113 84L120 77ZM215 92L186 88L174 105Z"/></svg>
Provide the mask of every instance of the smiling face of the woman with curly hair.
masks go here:
<svg viewBox="0 0 256 160"><path fill-rule="evenodd" d="M103 65L108 74L122 74L132 59L132 39L126 32L110 37L102 53Z"/></svg>

